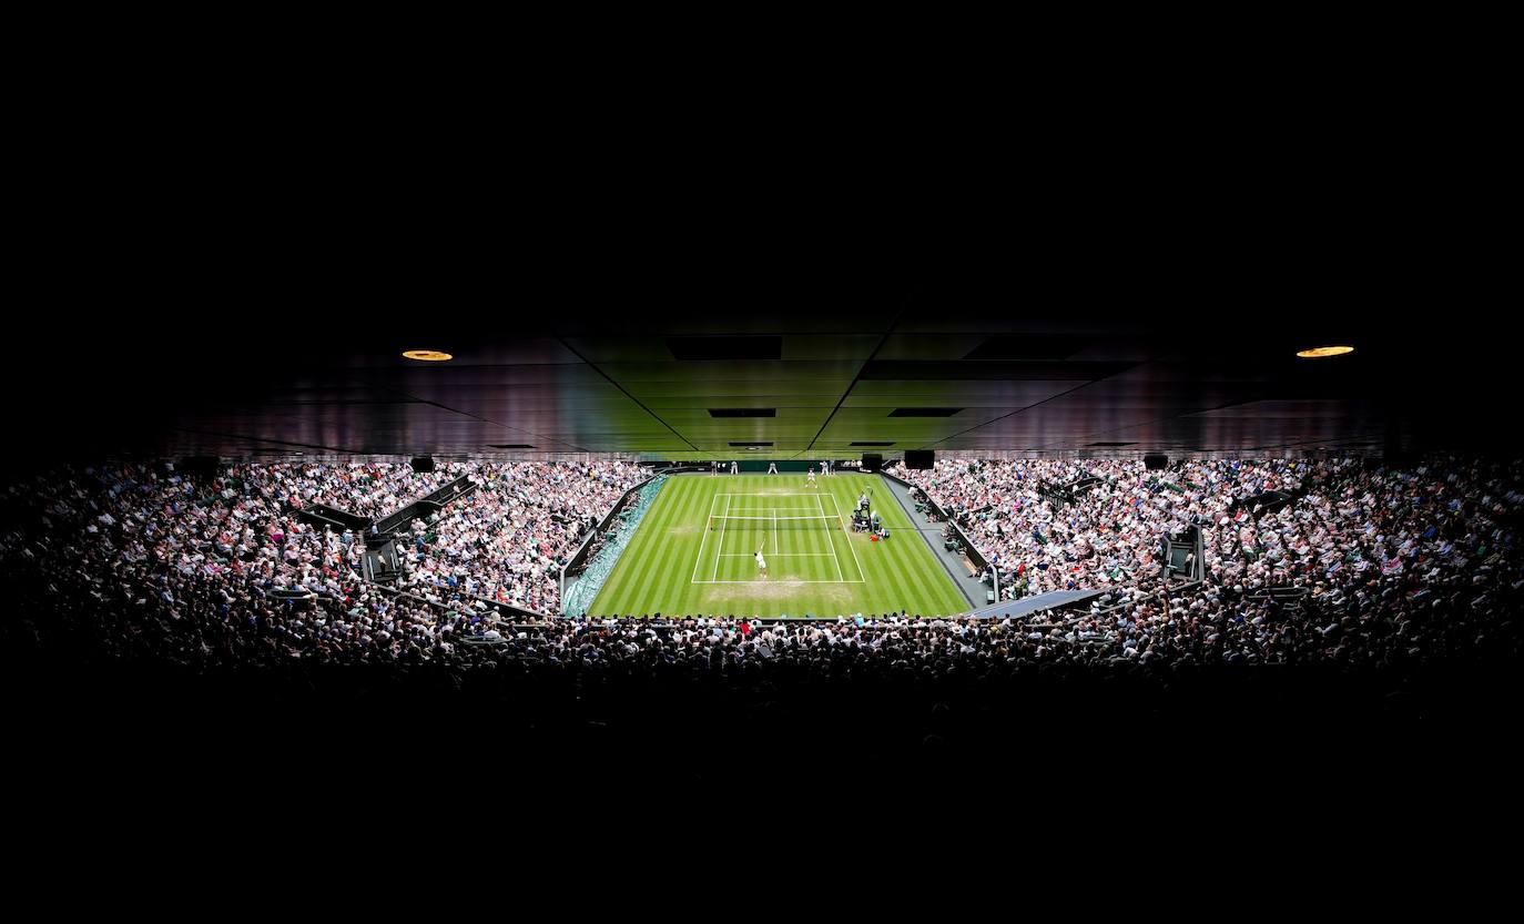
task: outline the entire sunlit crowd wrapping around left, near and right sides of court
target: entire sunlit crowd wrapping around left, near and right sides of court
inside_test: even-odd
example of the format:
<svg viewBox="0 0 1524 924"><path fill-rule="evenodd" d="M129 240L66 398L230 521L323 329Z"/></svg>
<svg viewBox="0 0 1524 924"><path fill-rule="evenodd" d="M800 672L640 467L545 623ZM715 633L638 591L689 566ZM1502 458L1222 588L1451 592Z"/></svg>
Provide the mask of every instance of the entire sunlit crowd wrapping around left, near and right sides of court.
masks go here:
<svg viewBox="0 0 1524 924"><path fill-rule="evenodd" d="M274 500L268 473L232 467L192 480L120 467L9 488L0 560L20 599L8 631L197 669L372 663L937 677L1042 665L1393 666L1518 654L1518 464L1202 462L1166 473L1183 491L1155 491L1152 473L1108 462L1088 467L1106 479L1085 496L1096 499L1091 514L1084 502L1053 508L1026 488L1038 471L1067 474L1052 464L952 465L931 473L928 491L975 526L1009 523L983 534L1012 537L992 553L1018 557L1018 569L1055 570L1065 582L1111 575L1093 560L1143 560L1148 529L1193 518L1207 537L1207 579L1167 593L1114 579L1090 610L988 621L902 611L826 622L515 622L488 601L504 592L552 602L550 564L636 479L632 468L477 467L475 491L424 521L398 593L361 581L363 537L300 523ZM1256 509L1256 491L1268 486L1297 494L1277 511ZM1087 532L1094 523L1116 535ZM1033 525L1055 538L1020 541ZM1263 593L1269 587L1300 593Z"/></svg>

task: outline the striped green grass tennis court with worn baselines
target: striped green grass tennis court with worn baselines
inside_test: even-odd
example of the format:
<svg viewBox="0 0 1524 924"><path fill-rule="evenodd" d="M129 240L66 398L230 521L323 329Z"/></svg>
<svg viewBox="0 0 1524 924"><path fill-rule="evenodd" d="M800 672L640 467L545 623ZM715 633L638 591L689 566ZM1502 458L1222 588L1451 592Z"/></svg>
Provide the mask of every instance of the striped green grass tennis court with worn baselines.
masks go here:
<svg viewBox="0 0 1524 924"><path fill-rule="evenodd" d="M837 616L905 608L945 616L969 608L882 479L837 474L815 483L809 488L797 473L668 479L588 614ZM844 532L837 518L840 512L850 525L858 496L870 488L888 541ZM719 517L713 529L710 517ZM753 558L759 547L767 578Z"/></svg>

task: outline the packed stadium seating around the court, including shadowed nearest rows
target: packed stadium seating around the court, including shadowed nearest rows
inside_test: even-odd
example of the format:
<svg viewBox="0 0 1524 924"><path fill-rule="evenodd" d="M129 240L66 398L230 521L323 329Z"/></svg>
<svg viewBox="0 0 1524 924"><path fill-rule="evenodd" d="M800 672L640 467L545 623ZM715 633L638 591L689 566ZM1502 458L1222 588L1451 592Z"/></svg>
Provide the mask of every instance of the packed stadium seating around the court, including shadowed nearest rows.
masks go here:
<svg viewBox="0 0 1524 924"><path fill-rule="evenodd" d="M1084 468L1108 480L1062 506L1033 499L1032 470L1013 462L939 462L924 485L1026 592L1096 582L1106 595L1090 607L788 622L495 605L555 611L550 569L642 480L616 462L465 464L475 491L401 534L395 586L361 578L363 531L305 523L300 492L268 470L198 482L62 468L0 497L3 675L17 695L49 697L35 717L50 747L67 733L166 755L149 787L203 761L209 740L224 775L291 779L265 761L296 753L328 773L384 768L387 790L428 779L440 749L495 773L584 781L639 752L649 772L704 781L707 767L803 773L806 753L928 773L1036 761L1061 776L1109 768L1116 747L1196 761L1212 741L1221 758L1225 740L1237 767L1318 785L1266 743L1398 762L1434 750L1437 729L1487 741L1509 714L1518 464L1201 462L1154 483L1131 464ZM1263 509L1254 496L1271 488L1292 500ZM1181 523L1202 529L1204 579L1151 576ZM1033 525L1053 538L1023 541ZM1422 724L1433 715L1448 720ZM1396 718L1387 752L1349 736ZM433 744L418 752L408 743L425 729ZM267 753L270 741L287 744ZM497 743L533 758L503 765Z"/></svg>

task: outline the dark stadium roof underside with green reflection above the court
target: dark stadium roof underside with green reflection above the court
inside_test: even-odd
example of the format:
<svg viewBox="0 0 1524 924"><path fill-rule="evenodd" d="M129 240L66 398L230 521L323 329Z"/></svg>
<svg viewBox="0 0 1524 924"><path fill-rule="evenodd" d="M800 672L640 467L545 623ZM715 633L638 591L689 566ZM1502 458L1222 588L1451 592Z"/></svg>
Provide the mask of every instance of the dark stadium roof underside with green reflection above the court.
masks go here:
<svg viewBox="0 0 1524 924"><path fill-rule="evenodd" d="M1512 412L1494 410L1516 392L1506 343L1455 319L1027 308L1015 285L648 293L613 316L587 303L504 294L489 310L352 308L315 313L319 323L300 311L262 323L242 308L146 328L104 319L9 364L15 447L226 459L1253 457L1515 439ZM1295 355L1327 345L1355 352Z"/></svg>

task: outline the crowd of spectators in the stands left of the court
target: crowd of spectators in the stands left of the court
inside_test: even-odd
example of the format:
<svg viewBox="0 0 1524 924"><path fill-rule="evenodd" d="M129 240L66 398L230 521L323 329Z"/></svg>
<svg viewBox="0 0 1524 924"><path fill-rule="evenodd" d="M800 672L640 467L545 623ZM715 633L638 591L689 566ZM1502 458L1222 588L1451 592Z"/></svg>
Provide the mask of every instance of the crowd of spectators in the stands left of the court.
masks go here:
<svg viewBox="0 0 1524 924"><path fill-rule="evenodd" d="M363 581L375 537L300 517L309 503L381 517L462 474L477 489L401 537L411 602ZM21 586L43 578L72 601L62 624L84 616L75 628L88 631L99 619L99 643L120 654L232 663L276 640L352 653L427 640L447 605L477 619L491 601L556 611L559 567L637 474L620 462L459 462L431 476L233 465L204 480L151 465L64 468L6 489L0 558Z"/></svg>

